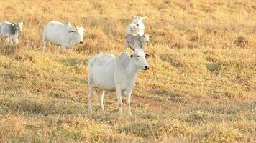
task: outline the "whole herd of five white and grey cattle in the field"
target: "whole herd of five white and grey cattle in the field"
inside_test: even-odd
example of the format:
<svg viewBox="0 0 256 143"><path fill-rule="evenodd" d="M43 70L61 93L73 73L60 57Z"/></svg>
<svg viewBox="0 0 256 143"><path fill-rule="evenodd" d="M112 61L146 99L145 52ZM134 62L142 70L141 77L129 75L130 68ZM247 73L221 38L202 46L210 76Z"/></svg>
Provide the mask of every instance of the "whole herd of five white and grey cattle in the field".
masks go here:
<svg viewBox="0 0 256 143"><path fill-rule="evenodd" d="M150 35L145 34L145 25L141 16L134 16L131 24L127 26L124 40L126 54L114 56L100 52L88 61L88 109L92 112L93 87L99 90L98 97L101 110L104 111L104 92L116 92L119 114L122 114L122 92L127 98L127 114L131 115L130 101L134 88L137 73L149 69L147 63L146 45ZM18 36L22 33L23 22L10 23L4 21L0 23L0 39L6 39L9 43L18 44ZM83 27L74 27L69 21L61 23L50 21L45 26L42 34L42 44L46 49L47 44L63 46L65 49L72 49L76 44L83 44ZM132 55L127 56L128 49L132 49Z"/></svg>

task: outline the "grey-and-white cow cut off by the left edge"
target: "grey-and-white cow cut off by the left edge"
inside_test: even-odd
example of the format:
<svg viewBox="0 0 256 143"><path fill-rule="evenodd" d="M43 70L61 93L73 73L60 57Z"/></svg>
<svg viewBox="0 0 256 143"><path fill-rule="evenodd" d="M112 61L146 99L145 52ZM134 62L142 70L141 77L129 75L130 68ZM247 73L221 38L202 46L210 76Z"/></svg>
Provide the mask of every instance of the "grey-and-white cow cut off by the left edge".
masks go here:
<svg viewBox="0 0 256 143"><path fill-rule="evenodd" d="M19 23L10 23L8 21L4 21L0 23L0 39L6 38L6 41L13 44L19 43L18 36L22 33L23 22Z"/></svg>

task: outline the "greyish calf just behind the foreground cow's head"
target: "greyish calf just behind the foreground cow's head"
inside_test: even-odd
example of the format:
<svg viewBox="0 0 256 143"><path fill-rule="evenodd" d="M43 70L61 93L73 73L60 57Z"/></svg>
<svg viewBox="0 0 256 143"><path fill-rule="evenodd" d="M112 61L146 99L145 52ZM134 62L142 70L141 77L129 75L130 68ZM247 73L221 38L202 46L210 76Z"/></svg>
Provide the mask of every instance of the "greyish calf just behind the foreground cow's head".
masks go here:
<svg viewBox="0 0 256 143"><path fill-rule="evenodd" d="M129 41L129 43L128 43ZM150 41L150 35L144 34L140 36L137 34L136 36L133 34L127 34L124 41L124 49L126 49L126 53L128 53L129 44L135 49L143 49L146 52L146 45Z"/></svg>

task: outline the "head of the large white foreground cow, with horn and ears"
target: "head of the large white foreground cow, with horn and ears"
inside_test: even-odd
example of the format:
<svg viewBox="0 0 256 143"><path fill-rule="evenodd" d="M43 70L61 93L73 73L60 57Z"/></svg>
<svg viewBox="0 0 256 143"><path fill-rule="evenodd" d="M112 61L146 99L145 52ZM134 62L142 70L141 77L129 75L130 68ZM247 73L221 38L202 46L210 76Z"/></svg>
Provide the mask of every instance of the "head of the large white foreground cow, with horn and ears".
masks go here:
<svg viewBox="0 0 256 143"><path fill-rule="evenodd" d="M137 67L137 69L138 70L150 69L150 66L147 64L147 59L146 59L147 56L149 56L149 54L145 54L143 49L134 49L134 47L132 47L130 43L129 43L129 46L133 50L131 58L134 61L134 65Z"/></svg>

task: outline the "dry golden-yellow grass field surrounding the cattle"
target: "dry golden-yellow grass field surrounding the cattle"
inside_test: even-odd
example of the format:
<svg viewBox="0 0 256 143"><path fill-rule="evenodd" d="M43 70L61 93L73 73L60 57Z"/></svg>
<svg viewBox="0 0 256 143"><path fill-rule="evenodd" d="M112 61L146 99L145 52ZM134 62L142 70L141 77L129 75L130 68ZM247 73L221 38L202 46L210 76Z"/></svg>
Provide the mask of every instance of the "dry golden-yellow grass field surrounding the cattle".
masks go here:
<svg viewBox="0 0 256 143"><path fill-rule="evenodd" d="M132 16L147 16L150 69L132 113L114 93L87 109L88 59L119 56ZM0 43L0 142L256 142L256 1L1 0L0 21L24 21ZM86 29L71 50L42 50L48 21Z"/></svg>

